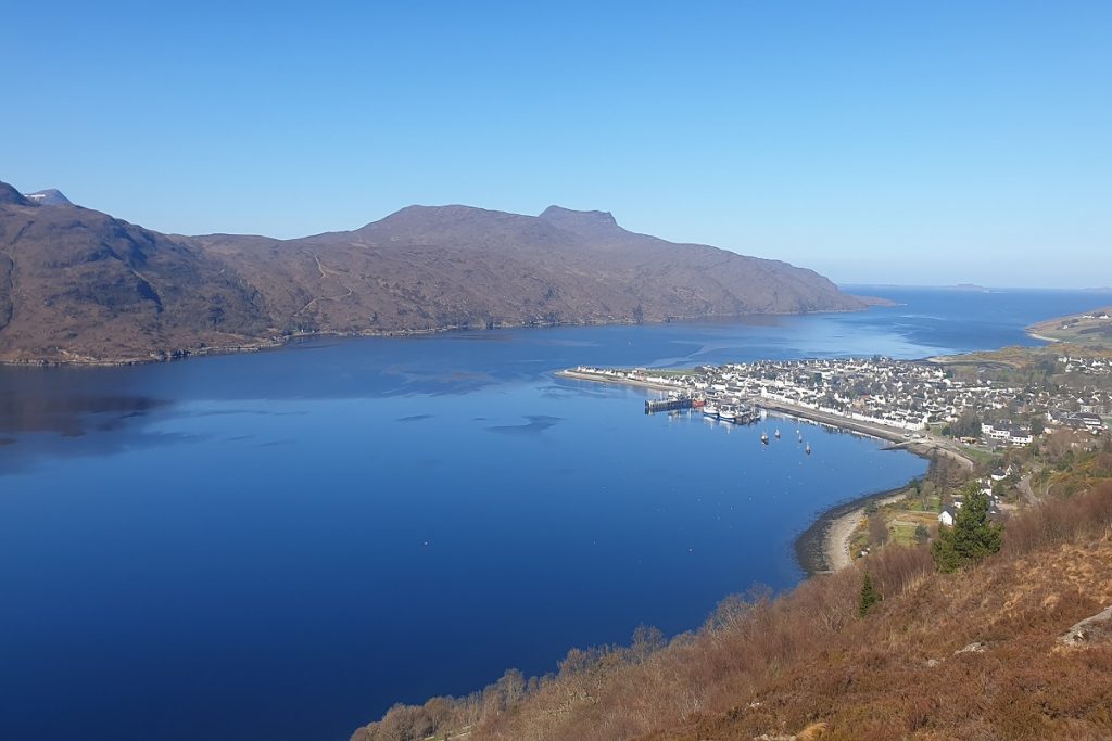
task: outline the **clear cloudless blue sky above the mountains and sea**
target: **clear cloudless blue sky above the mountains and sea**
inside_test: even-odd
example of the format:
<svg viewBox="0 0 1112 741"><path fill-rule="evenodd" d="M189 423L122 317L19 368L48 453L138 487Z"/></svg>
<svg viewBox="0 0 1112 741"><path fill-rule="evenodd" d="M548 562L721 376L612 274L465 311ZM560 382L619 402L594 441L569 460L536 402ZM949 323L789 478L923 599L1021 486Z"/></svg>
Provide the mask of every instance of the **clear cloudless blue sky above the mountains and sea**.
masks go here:
<svg viewBox="0 0 1112 741"><path fill-rule="evenodd" d="M1106 0L12 2L0 40L0 180L160 231L558 203L840 282L1112 284Z"/></svg>

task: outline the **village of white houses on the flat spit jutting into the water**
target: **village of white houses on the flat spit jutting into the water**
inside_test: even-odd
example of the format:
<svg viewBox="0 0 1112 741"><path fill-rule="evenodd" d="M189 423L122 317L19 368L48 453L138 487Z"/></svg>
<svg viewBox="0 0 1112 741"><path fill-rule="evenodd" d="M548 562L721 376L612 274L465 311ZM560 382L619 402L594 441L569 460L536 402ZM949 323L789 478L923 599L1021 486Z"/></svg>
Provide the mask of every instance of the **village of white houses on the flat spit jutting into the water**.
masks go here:
<svg viewBox="0 0 1112 741"><path fill-rule="evenodd" d="M964 371L964 372L963 372ZM579 367L569 374L705 400L786 407L967 445L1025 445L1056 429L1100 433L1112 413L1112 360L1061 356L1055 383L1009 383L985 368L891 358L762 360L685 371ZM1101 378L1103 382L1086 382Z"/></svg>

